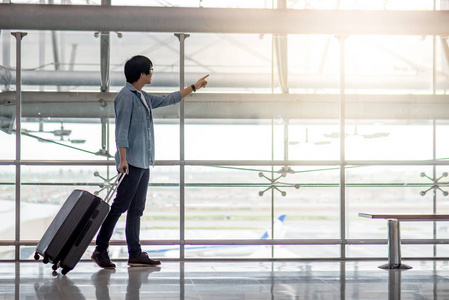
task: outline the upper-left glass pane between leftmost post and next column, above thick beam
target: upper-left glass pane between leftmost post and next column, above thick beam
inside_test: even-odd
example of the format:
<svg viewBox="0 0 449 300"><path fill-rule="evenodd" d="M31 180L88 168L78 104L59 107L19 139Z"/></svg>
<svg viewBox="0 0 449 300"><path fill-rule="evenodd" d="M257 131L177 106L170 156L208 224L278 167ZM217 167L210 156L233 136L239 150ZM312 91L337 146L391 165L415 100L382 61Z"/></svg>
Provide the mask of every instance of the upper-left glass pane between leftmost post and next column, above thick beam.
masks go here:
<svg viewBox="0 0 449 300"><path fill-rule="evenodd" d="M93 32L27 32L22 40L23 91L99 91L100 40Z"/></svg>

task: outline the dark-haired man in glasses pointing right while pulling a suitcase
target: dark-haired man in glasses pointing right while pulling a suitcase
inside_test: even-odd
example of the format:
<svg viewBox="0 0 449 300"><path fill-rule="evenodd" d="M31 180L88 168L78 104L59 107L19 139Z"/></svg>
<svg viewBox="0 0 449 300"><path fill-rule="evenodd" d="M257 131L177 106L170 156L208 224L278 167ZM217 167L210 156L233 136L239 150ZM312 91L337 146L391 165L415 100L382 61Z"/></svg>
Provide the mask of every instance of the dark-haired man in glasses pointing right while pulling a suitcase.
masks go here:
<svg viewBox="0 0 449 300"><path fill-rule="evenodd" d="M160 261L148 257L140 246L140 218L145 209L150 178L149 166L154 163L153 109L181 102L192 92L206 87L209 75L195 84L167 96L154 96L142 91L151 83L153 63L145 56L134 56L125 64L126 86L114 100L117 170L126 173L111 205L111 211L100 228L92 259L102 268L115 268L108 255L109 241L122 213L127 212L126 243L128 265L155 266Z"/></svg>

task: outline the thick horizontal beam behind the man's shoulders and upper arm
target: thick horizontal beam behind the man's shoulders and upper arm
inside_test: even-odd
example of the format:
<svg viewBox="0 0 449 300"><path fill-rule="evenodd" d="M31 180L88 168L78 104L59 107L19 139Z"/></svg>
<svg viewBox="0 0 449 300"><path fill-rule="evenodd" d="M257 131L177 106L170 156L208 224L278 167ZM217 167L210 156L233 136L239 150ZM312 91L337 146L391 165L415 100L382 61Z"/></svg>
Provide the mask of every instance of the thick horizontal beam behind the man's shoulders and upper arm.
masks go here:
<svg viewBox="0 0 449 300"><path fill-rule="evenodd" d="M114 118L116 93L22 92L23 118ZM197 93L186 98L187 119L338 119L338 94ZM449 120L446 95L346 95L347 119ZM0 123L14 115L15 92L0 93ZM155 110L177 119L177 106Z"/></svg>

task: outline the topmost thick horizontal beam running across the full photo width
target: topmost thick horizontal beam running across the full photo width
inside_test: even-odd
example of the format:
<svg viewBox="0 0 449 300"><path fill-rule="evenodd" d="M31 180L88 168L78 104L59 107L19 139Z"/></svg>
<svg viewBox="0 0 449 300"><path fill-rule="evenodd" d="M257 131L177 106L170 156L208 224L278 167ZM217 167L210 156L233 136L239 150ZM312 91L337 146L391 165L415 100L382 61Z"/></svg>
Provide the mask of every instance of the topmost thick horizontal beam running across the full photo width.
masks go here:
<svg viewBox="0 0 449 300"><path fill-rule="evenodd" d="M449 11L0 4L0 28L190 33L449 35Z"/></svg>

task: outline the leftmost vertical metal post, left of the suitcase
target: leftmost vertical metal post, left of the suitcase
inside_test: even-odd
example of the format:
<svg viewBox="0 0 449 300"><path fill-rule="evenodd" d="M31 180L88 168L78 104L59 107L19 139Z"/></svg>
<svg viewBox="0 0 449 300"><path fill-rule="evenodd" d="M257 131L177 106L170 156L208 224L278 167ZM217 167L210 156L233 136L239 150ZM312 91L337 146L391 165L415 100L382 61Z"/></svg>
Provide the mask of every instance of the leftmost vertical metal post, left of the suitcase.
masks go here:
<svg viewBox="0 0 449 300"><path fill-rule="evenodd" d="M22 116L22 38L26 32L11 32L16 38L16 235L14 244L15 260L20 260L20 150L21 150L21 116Z"/></svg>

